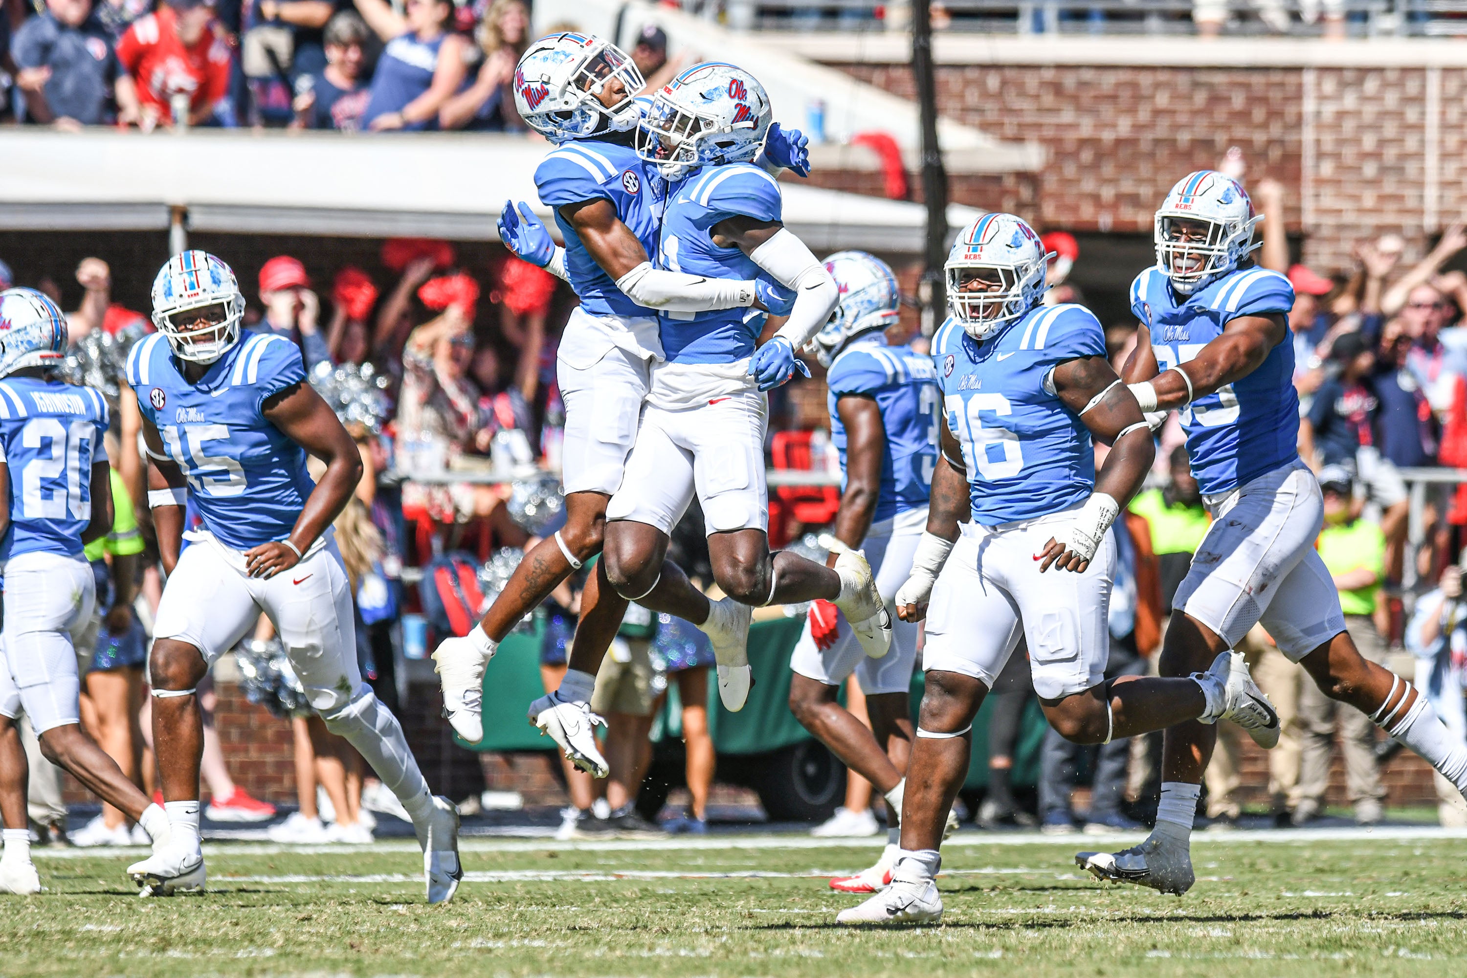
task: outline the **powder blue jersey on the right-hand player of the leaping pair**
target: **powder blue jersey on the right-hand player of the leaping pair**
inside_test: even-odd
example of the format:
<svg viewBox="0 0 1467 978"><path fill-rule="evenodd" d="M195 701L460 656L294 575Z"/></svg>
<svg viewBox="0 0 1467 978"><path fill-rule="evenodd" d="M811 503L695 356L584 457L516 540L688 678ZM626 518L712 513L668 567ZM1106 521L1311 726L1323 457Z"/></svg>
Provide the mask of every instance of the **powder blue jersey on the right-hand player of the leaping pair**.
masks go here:
<svg viewBox="0 0 1467 978"><path fill-rule="evenodd" d="M713 226L735 216L778 221L782 213L779 182L751 163L694 170L669 188L659 267L709 279L757 279L761 270L748 255L713 243ZM734 364L753 356L766 318L754 308L663 312L662 349L669 364Z"/></svg>

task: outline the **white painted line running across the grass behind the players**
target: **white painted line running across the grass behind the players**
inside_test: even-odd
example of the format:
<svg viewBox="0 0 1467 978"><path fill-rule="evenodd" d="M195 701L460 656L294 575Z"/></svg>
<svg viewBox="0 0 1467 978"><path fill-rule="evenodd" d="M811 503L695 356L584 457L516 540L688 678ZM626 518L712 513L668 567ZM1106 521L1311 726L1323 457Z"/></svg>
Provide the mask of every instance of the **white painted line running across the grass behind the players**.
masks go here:
<svg viewBox="0 0 1467 978"><path fill-rule="evenodd" d="M522 830L521 830L522 831ZM1140 833L1108 836L1045 836L1037 831L959 831L943 843L954 846L1064 846L1068 849L1106 849L1119 843L1134 845ZM1378 826L1375 828L1238 828L1235 831L1200 831L1193 836L1197 845L1270 843L1297 845L1310 842L1444 842L1467 839L1467 828L1439 828L1435 826ZM710 836L670 839L606 839L557 842L524 837L469 836L459 839L464 852L697 852L729 849L880 849L883 836L866 839L813 839L797 834L742 834L713 833ZM270 856L280 853L352 855L418 852L418 843L408 839L377 842L371 846L286 846L255 842L210 842L204 846L208 855ZM91 856L132 855L145 852L141 846L98 846L95 849L50 849L31 850L35 859L85 859Z"/></svg>

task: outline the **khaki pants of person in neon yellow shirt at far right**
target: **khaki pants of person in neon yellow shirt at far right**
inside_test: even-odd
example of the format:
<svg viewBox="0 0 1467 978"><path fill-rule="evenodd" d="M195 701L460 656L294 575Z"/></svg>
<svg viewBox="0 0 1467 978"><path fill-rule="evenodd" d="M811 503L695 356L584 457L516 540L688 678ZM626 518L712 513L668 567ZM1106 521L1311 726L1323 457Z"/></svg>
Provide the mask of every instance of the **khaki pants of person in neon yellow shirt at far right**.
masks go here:
<svg viewBox="0 0 1467 978"><path fill-rule="evenodd" d="M1366 660L1385 663L1386 647L1375 622L1363 614L1345 616L1345 628L1356 648ZM1375 723L1354 707L1335 702L1310 679L1304 679L1298 698L1300 726L1304 732L1304 754L1300 767L1300 799L1325 804L1329 786L1329 761L1334 754L1335 727L1345 754L1345 787L1351 804L1366 798L1385 798L1380 786L1380 765L1375 755Z"/></svg>

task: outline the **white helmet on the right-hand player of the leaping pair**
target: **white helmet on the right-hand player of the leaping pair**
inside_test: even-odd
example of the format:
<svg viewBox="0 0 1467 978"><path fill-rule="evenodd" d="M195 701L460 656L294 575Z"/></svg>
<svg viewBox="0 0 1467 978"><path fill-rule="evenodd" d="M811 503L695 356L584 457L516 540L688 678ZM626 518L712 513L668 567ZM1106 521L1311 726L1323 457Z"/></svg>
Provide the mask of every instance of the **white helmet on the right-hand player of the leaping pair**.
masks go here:
<svg viewBox="0 0 1467 978"><path fill-rule="evenodd" d="M753 163L764 151L769 94L741 67L707 62L662 87L637 129L637 155L669 180L723 163Z"/></svg>

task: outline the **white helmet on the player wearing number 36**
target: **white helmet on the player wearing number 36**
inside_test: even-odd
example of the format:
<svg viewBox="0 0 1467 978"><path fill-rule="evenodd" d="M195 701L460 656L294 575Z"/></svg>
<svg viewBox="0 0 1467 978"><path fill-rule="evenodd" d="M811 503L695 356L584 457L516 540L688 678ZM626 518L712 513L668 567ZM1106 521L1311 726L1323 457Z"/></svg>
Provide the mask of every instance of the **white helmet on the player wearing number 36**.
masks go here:
<svg viewBox="0 0 1467 978"><path fill-rule="evenodd" d="M1045 296L1049 255L1022 217L984 214L948 251L948 309L983 340L1017 321Z"/></svg>

